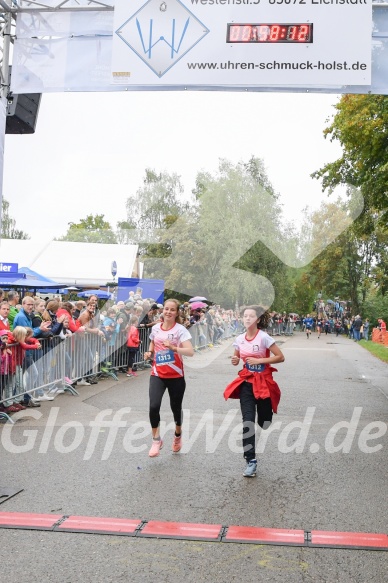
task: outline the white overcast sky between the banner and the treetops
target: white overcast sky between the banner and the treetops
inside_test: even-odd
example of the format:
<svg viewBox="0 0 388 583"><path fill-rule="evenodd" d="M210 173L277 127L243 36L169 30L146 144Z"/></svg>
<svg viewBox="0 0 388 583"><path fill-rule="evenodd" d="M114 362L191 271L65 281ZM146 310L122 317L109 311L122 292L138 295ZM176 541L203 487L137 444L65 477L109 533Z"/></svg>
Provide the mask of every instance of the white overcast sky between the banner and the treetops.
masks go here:
<svg viewBox="0 0 388 583"><path fill-rule="evenodd" d="M288 219L326 194L310 174L337 159L323 137L336 95L227 92L44 94L33 135L7 135L4 197L31 236L64 235L69 222L126 219L145 168L176 172L185 190L220 158L262 158Z"/></svg>

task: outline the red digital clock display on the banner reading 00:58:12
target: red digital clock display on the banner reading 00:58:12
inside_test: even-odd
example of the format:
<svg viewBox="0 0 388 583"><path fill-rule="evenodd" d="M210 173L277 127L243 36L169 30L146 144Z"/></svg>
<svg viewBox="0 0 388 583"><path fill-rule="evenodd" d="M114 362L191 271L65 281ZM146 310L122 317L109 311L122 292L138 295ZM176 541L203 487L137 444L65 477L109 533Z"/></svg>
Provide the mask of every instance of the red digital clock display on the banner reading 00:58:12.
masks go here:
<svg viewBox="0 0 388 583"><path fill-rule="evenodd" d="M312 23L228 24L227 43L312 43Z"/></svg>

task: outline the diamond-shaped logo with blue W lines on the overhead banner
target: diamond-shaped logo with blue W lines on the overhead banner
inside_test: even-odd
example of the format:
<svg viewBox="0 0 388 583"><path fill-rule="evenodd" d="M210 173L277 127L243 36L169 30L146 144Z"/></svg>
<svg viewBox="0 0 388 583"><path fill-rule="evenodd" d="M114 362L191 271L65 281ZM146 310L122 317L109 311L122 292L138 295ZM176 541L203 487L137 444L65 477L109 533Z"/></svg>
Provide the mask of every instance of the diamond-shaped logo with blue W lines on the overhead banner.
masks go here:
<svg viewBox="0 0 388 583"><path fill-rule="evenodd" d="M209 32L179 0L149 0L116 30L158 77Z"/></svg>

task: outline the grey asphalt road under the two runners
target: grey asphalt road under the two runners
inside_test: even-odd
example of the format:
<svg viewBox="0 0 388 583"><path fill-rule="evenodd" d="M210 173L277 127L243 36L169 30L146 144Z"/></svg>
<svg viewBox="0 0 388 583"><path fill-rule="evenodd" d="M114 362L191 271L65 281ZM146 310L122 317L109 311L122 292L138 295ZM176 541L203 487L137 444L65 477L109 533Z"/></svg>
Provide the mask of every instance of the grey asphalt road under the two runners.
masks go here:
<svg viewBox="0 0 388 583"><path fill-rule="evenodd" d="M0 484L23 491L0 512L387 533L387 365L330 335L279 345L282 399L271 430L258 431L256 478L242 476L239 403L222 396L236 373L225 342L186 360L180 454L166 395L165 446L148 457L148 371L1 425ZM8 529L0 547L3 580L18 583L388 580L385 551Z"/></svg>

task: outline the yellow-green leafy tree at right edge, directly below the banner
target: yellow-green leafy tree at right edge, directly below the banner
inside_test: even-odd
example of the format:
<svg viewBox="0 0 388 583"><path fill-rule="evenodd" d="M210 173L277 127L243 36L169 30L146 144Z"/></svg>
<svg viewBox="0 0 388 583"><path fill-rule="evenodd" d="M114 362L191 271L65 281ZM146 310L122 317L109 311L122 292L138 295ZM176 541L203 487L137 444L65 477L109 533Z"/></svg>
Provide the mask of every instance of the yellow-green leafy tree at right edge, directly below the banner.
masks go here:
<svg viewBox="0 0 388 583"><path fill-rule="evenodd" d="M341 261L347 257L351 295L357 288L362 305L371 293L384 295L388 289L388 97L344 95L324 133L340 142L343 153L313 176L322 179L324 190L348 184L364 198L363 213L346 241L341 236L342 243L337 242L344 253Z"/></svg>

